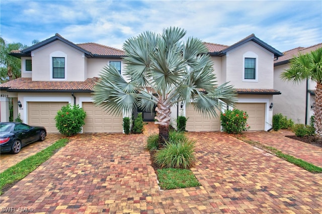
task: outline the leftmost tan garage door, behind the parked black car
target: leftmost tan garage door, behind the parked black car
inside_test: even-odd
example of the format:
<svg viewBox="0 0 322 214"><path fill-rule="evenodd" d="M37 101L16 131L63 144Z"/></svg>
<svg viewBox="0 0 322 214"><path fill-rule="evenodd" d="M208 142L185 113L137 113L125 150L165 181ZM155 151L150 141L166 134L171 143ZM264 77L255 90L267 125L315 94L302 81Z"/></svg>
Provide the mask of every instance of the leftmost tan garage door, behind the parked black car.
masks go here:
<svg viewBox="0 0 322 214"><path fill-rule="evenodd" d="M68 102L28 102L28 124L44 126L48 133L58 133L55 116Z"/></svg>

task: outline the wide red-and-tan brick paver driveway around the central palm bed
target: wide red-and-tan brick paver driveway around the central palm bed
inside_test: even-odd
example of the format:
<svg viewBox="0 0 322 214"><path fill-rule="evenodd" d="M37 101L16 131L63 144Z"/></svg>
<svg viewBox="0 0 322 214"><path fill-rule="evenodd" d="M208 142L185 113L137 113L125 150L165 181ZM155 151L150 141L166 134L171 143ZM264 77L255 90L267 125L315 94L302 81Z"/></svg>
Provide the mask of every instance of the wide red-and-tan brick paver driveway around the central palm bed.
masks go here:
<svg viewBox="0 0 322 214"><path fill-rule="evenodd" d="M36 213L322 213L322 174L225 133L197 139L202 186L159 190L146 135L83 134L1 196ZM21 210L21 209L20 209Z"/></svg>

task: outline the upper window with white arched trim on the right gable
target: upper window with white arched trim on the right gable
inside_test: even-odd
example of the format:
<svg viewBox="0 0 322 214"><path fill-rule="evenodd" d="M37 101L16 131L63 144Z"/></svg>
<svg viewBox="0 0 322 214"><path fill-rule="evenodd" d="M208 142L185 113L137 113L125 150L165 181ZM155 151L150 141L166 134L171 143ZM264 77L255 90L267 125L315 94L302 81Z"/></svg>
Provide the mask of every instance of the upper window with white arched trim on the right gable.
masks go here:
<svg viewBox="0 0 322 214"><path fill-rule="evenodd" d="M243 81L258 82L258 55L250 51L243 55Z"/></svg>

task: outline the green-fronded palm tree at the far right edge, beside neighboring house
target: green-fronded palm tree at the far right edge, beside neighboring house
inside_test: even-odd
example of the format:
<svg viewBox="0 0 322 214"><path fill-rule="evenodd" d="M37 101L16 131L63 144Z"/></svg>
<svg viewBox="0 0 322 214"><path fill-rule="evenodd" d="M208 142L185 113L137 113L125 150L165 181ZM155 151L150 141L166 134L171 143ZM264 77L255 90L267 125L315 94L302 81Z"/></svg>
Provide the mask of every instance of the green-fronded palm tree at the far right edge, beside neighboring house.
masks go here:
<svg viewBox="0 0 322 214"><path fill-rule="evenodd" d="M322 136L322 48L308 54L299 54L290 62L290 68L281 74L283 80L299 83L311 79L316 82L314 128L316 134Z"/></svg>

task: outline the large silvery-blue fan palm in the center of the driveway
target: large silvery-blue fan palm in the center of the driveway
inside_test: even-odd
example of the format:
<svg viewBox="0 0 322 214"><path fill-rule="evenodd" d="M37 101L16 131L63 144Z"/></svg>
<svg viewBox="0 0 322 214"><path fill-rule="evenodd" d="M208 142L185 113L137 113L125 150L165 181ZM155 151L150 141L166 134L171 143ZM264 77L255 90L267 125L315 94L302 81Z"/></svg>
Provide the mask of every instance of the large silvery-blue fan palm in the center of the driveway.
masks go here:
<svg viewBox="0 0 322 214"><path fill-rule="evenodd" d="M194 102L203 116L217 117L221 102L234 103L234 89L216 84L213 63L201 40L179 28L163 34L145 32L123 44L126 79L112 66L103 68L94 86L94 102L113 114L131 113L137 106L152 111L159 129L158 147L169 138L171 107Z"/></svg>

